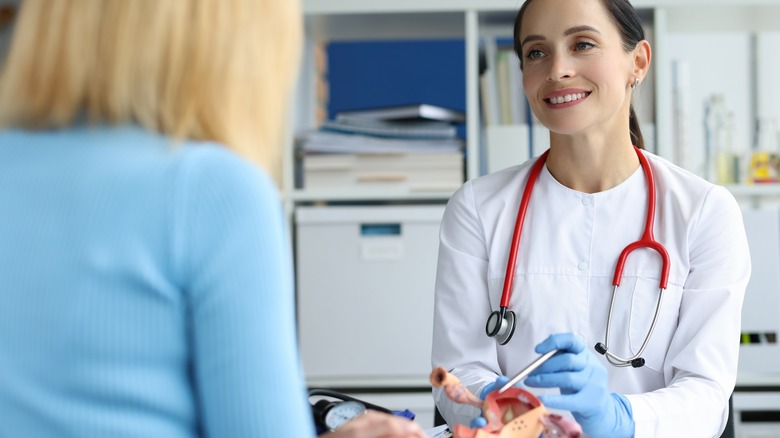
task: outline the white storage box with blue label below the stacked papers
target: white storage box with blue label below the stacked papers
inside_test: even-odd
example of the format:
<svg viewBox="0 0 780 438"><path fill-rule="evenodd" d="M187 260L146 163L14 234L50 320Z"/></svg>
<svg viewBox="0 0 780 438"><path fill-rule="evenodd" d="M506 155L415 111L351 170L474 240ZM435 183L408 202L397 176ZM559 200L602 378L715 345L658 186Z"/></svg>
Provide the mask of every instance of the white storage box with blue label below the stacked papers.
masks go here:
<svg viewBox="0 0 780 438"><path fill-rule="evenodd" d="M428 384L444 207L300 207L301 355L315 386Z"/></svg>

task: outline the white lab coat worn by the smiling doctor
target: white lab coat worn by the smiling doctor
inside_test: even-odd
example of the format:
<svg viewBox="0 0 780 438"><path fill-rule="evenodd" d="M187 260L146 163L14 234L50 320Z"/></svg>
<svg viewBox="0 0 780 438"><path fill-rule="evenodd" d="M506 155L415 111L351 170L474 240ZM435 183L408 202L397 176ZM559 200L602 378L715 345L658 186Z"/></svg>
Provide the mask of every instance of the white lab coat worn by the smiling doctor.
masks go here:
<svg viewBox="0 0 780 438"><path fill-rule="evenodd" d="M654 233L671 269L642 368L610 365L610 389L627 396L636 437L718 436L724 429L739 354L741 308L750 276L742 215L724 188L645 152L656 181ZM517 208L535 160L466 182L441 224L433 366L451 370L475 394L496 374L512 376L550 334L603 342L617 257L643 232L647 182L641 168L604 192L558 183L545 167L531 197L509 309L517 328L499 346L485 334L499 309ZM628 258L615 300L610 351L640 347L658 297L661 260L640 249ZM448 423L468 424L473 408L434 391Z"/></svg>

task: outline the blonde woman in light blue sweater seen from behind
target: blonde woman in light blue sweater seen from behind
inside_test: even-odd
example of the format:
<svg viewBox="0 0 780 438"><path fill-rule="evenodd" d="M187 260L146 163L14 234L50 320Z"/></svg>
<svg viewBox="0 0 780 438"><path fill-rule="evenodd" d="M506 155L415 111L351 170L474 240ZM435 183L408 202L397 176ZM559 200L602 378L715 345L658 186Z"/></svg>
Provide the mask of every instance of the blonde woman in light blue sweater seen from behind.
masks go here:
<svg viewBox="0 0 780 438"><path fill-rule="evenodd" d="M0 436L313 436L274 184L298 3L25 0L15 26Z"/></svg>

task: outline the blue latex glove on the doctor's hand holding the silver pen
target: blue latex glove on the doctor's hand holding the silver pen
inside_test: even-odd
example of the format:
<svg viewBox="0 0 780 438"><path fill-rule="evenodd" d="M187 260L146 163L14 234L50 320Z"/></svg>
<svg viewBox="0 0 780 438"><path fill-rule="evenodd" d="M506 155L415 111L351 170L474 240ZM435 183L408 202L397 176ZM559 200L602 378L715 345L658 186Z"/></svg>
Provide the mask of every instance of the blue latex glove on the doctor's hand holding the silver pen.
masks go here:
<svg viewBox="0 0 780 438"><path fill-rule="evenodd" d="M561 394L539 396L548 408L571 411L582 430L594 437L634 436L631 404L607 388L607 370L572 333L555 334L536 346L544 354L560 350L525 379L539 388L560 388Z"/></svg>

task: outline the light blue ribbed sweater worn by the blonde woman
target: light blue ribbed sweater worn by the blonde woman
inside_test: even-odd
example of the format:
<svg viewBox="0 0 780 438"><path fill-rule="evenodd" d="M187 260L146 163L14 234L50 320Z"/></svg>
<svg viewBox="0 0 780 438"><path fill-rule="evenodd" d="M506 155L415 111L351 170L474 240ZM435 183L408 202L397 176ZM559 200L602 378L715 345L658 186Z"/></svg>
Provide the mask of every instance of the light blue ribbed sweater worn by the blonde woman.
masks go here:
<svg viewBox="0 0 780 438"><path fill-rule="evenodd" d="M136 127L0 132L0 437L314 436L273 183Z"/></svg>

